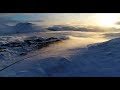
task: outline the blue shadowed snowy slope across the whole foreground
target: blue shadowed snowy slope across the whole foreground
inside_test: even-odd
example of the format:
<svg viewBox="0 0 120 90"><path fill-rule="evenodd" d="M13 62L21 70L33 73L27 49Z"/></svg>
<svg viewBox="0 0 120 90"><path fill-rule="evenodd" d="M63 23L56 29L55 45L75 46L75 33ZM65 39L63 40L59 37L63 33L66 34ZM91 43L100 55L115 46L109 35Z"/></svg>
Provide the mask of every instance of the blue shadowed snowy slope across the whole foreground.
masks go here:
<svg viewBox="0 0 120 90"><path fill-rule="evenodd" d="M88 46L71 58L31 57L2 72L0 76L120 76L120 38Z"/></svg>

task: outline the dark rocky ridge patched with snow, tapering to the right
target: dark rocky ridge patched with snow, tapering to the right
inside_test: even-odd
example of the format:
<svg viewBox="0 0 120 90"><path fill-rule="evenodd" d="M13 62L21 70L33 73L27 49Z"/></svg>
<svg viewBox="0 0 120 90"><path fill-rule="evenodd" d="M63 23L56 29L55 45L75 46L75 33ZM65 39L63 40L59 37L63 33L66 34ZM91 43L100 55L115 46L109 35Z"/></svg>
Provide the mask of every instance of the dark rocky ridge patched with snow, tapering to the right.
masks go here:
<svg viewBox="0 0 120 90"><path fill-rule="evenodd" d="M10 55L26 55L30 51L41 49L49 44L64 40L65 38L43 38L43 37L29 37L23 41L8 42L6 44L0 44L0 54L6 52Z"/></svg>

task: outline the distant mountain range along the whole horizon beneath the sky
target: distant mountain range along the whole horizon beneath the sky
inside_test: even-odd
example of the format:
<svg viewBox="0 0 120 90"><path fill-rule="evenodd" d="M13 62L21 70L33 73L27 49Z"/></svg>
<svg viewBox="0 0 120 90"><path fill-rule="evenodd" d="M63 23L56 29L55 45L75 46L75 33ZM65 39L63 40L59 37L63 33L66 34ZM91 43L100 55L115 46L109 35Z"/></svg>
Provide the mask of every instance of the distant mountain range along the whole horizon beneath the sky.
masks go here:
<svg viewBox="0 0 120 90"><path fill-rule="evenodd" d="M48 28L43 28L42 26L37 26L32 23L17 23L14 26L9 26L6 24L0 24L0 35L10 35L18 33L31 33L31 32L46 32L46 31L81 31L81 32L105 32L116 30L113 28L103 29L98 27L75 27L67 25L54 25Z"/></svg>

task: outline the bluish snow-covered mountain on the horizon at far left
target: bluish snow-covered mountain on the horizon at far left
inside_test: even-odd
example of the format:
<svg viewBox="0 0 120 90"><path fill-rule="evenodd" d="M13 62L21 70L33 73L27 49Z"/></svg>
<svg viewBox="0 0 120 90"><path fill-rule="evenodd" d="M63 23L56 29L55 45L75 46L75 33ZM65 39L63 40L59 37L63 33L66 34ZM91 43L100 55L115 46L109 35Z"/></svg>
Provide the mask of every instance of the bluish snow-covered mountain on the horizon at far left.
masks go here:
<svg viewBox="0 0 120 90"><path fill-rule="evenodd" d="M15 26L0 24L0 35L48 31L32 23L18 23Z"/></svg>

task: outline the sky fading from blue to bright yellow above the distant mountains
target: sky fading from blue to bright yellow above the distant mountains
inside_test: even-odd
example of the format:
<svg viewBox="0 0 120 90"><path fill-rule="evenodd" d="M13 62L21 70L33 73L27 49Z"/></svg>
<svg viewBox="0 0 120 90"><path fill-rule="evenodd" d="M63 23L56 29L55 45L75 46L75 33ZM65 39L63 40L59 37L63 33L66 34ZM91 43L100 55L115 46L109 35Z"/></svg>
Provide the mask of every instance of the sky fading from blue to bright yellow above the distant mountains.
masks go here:
<svg viewBox="0 0 120 90"><path fill-rule="evenodd" d="M120 27L120 13L1 13L0 23Z"/></svg>

